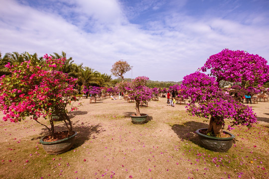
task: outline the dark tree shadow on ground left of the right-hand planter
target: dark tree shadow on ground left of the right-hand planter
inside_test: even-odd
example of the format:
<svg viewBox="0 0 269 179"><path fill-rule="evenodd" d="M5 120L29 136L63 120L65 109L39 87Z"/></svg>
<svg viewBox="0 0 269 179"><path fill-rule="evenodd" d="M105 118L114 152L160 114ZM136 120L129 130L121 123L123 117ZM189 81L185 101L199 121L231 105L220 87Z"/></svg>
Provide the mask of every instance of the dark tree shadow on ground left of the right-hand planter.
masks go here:
<svg viewBox="0 0 269 179"><path fill-rule="evenodd" d="M208 128L208 124L202 122L189 121L184 124L174 124L172 130L181 140L191 141L199 145L198 135L195 133L197 129Z"/></svg>

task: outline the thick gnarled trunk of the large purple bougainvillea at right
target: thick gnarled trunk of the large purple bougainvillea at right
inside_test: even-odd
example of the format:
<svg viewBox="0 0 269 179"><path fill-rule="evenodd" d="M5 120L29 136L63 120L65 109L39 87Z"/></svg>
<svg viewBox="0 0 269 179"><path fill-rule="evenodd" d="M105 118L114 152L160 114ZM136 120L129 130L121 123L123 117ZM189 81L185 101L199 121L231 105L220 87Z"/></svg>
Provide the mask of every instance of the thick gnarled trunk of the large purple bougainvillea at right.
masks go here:
<svg viewBox="0 0 269 179"><path fill-rule="evenodd" d="M211 117L207 134L210 136L220 137L223 133L223 120L220 117Z"/></svg>

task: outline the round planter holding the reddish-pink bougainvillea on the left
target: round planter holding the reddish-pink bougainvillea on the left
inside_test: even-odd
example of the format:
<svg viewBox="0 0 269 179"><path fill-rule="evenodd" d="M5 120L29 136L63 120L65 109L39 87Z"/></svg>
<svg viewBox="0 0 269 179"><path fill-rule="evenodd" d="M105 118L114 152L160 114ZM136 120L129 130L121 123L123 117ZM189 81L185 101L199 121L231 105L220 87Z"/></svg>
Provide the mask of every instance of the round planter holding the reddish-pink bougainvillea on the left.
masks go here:
<svg viewBox="0 0 269 179"><path fill-rule="evenodd" d="M39 142L42 144L43 149L46 153L61 154L61 153L67 152L73 146L73 144L75 143L75 136L77 134L78 133L75 132L75 134L73 134L72 136L69 136L65 139L54 141L54 142L43 141L43 139L47 137L45 136L45 137L42 137Z"/></svg>

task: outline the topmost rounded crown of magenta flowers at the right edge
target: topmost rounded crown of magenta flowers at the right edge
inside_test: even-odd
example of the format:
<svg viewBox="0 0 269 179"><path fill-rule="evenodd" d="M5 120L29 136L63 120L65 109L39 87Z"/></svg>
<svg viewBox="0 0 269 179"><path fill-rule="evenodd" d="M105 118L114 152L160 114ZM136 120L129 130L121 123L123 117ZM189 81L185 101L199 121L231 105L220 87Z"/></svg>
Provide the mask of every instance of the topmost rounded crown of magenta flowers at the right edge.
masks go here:
<svg viewBox="0 0 269 179"><path fill-rule="evenodd" d="M267 60L248 52L224 49L212 55L201 68L203 72L210 69L210 76L228 82L240 82L245 85L261 85L269 80ZM248 84L247 84L248 82Z"/></svg>

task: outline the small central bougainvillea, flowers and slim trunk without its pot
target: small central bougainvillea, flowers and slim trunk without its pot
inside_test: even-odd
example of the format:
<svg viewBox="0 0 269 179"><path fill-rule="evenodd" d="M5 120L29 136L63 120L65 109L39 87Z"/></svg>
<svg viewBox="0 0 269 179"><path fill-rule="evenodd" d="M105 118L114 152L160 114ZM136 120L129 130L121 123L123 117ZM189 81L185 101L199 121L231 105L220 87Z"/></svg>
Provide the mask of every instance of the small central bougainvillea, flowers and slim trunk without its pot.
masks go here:
<svg viewBox="0 0 269 179"><path fill-rule="evenodd" d="M148 77L137 77L130 84L129 97L135 100L136 116L140 115L140 102L147 101L152 97L152 89L146 87Z"/></svg>

